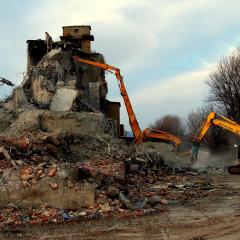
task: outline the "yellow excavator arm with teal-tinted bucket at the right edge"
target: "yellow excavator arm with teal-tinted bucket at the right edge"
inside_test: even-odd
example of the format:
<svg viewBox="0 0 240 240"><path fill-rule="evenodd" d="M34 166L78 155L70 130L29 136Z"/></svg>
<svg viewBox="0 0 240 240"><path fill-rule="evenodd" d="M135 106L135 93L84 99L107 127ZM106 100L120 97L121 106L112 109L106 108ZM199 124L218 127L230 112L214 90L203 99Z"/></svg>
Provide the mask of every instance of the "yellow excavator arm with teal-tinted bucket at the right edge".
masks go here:
<svg viewBox="0 0 240 240"><path fill-rule="evenodd" d="M199 128L197 134L194 137L193 147L192 147L193 162L197 161L200 143L212 125L219 126L232 133L240 135L240 125L238 123L226 117L218 115L215 112L210 112L206 120L203 122L202 126Z"/></svg>

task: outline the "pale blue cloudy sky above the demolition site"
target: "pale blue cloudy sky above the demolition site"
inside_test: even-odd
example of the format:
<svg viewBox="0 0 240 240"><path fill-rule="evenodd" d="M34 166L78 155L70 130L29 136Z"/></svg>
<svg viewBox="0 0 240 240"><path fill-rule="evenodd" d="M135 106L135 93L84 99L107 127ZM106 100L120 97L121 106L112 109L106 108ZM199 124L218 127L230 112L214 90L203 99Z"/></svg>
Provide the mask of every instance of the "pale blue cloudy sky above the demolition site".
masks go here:
<svg viewBox="0 0 240 240"><path fill-rule="evenodd" d="M1 77L21 82L27 39L44 39L45 31L58 39L64 25L91 25L92 48L121 69L142 128L201 106L204 81L240 41L239 0L1 0L0 14ZM109 100L122 102L107 78ZM8 93L1 88L1 97Z"/></svg>

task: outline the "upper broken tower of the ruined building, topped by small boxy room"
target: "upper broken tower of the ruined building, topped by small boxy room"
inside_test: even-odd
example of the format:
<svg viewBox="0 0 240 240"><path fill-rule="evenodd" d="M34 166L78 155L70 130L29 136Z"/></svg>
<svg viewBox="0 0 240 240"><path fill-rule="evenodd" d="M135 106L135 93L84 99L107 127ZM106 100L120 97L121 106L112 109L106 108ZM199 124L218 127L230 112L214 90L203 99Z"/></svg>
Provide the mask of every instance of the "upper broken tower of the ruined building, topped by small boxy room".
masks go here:
<svg viewBox="0 0 240 240"><path fill-rule="evenodd" d="M104 62L100 53L92 53L90 26L63 27L61 41L53 42L50 35L43 40L28 40L28 79L23 88L27 96L43 108L49 108L59 89L76 91L78 101L102 109L107 93L104 70L77 63L73 56ZM88 42L88 44L86 44ZM58 97L59 98L59 97ZM62 99L64 101L64 98ZM72 99L72 104L76 98ZM72 110L70 109L67 109ZM78 111L81 107L78 108Z"/></svg>

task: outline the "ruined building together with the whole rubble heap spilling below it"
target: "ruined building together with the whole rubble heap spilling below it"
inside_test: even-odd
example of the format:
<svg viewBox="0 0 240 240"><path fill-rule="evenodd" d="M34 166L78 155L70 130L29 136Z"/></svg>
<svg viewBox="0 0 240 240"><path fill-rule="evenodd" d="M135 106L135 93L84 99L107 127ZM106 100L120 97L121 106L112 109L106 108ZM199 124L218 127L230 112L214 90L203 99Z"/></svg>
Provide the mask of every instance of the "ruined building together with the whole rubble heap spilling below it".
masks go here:
<svg viewBox="0 0 240 240"><path fill-rule="evenodd" d="M118 138L104 70L73 60L104 63L90 29L27 41L27 75L1 103L0 227L141 216L209 194L198 173L181 174L190 159L173 146Z"/></svg>

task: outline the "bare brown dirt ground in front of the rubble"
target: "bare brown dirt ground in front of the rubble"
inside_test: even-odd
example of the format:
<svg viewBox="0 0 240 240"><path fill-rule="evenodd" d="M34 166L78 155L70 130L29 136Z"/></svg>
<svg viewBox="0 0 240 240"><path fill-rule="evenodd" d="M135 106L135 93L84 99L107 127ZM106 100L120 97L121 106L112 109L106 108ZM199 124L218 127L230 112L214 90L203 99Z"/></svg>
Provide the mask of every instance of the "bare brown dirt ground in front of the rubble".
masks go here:
<svg viewBox="0 0 240 240"><path fill-rule="evenodd" d="M5 229L1 239L240 239L240 176L216 175L208 197L158 214Z"/></svg>

